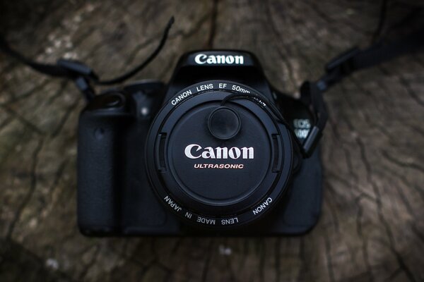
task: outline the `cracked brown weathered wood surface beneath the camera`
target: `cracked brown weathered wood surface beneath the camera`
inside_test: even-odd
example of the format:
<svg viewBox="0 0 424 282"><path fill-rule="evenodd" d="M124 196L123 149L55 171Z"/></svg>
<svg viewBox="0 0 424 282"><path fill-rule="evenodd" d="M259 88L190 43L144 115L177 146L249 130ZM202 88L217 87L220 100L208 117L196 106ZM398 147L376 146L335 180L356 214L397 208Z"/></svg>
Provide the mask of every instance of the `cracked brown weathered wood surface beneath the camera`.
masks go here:
<svg viewBox="0 0 424 282"><path fill-rule="evenodd" d="M0 27L32 58L81 59L107 78L145 58L175 15L165 49L137 78L167 81L190 49L247 49L273 85L295 93L332 56L369 44L379 16L379 1L310 2L2 1ZM408 2L389 2L387 20ZM326 93L322 216L291 238L83 237L83 99L71 82L1 54L0 86L0 281L424 281L423 54Z"/></svg>

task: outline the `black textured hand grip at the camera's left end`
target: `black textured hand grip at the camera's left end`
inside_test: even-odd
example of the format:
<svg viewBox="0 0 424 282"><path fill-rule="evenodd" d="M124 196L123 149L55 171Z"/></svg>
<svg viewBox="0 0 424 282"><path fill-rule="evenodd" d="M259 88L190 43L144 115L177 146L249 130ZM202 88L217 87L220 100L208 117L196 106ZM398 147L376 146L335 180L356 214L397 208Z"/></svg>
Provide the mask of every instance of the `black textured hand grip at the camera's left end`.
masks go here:
<svg viewBox="0 0 424 282"><path fill-rule="evenodd" d="M78 226L81 232L113 234L120 226L122 144L129 114L84 111L78 126Z"/></svg>

